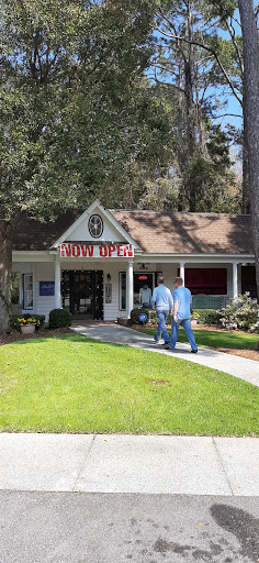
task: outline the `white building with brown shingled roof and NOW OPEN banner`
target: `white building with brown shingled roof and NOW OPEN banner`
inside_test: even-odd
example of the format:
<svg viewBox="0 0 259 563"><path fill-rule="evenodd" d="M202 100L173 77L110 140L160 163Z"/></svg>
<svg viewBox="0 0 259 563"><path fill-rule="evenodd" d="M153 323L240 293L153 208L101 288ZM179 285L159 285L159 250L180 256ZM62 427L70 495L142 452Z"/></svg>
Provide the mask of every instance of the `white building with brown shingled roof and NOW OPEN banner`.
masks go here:
<svg viewBox="0 0 259 563"><path fill-rule="evenodd" d="M173 289L236 298L255 289L250 217L113 211L95 200L42 223L23 213L13 240L23 312L67 307L75 317L115 320L139 306L157 275Z"/></svg>

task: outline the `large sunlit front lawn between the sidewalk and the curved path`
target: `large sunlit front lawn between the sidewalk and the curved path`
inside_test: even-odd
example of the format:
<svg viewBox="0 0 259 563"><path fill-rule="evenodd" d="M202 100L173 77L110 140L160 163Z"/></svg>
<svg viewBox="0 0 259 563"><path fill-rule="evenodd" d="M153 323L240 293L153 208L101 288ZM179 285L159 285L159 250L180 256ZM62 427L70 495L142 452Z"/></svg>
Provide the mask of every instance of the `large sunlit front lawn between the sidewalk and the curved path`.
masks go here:
<svg viewBox="0 0 259 563"><path fill-rule="evenodd" d="M1 431L259 434L259 388L164 354L65 334L1 346L0 366Z"/></svg>

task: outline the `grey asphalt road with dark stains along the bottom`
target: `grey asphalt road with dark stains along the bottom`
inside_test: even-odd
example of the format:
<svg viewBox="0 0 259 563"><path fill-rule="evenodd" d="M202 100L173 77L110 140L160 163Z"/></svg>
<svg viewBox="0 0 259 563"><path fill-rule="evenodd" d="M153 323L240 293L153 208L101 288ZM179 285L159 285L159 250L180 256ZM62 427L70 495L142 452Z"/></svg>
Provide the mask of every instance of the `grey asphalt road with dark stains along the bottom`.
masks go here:
<svg viewBox="0 0 259 563"><path fill-rule="evenodd" d="M0 492L1 563L259 561L259 498Z"/></svg>

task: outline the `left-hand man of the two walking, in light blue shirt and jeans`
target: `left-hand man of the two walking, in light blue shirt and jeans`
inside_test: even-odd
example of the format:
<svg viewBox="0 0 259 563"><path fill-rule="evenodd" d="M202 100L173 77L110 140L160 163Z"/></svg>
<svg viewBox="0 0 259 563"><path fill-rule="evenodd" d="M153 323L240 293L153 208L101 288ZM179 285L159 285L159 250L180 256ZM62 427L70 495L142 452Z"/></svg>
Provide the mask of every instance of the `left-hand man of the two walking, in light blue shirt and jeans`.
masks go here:
<svg viewBox="0 0 259 563"><path fill-rule="evenodd" d="M166 320L169 312L172 313L172 296L170 289L165 287L162 276L157 278L157 287L155 287L153 291L151 305L153 309L156 309L158 318L157 334L154 339L158 343L162 335L165 344L168 345L169 335L166 328Z"/></svg>

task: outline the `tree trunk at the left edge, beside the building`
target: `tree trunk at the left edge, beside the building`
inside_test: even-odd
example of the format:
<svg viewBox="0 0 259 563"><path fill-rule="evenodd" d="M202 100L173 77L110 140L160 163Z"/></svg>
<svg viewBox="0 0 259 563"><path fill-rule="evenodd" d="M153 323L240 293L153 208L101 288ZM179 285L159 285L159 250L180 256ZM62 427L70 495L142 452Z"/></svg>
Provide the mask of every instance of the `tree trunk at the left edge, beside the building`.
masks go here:
<svg viewBox="0 0 259 563"><path fill-rule="evenodd" d="M11 313L12 234L13 223L0 219L0 333L9 330Z"/></svg>

